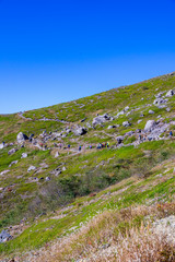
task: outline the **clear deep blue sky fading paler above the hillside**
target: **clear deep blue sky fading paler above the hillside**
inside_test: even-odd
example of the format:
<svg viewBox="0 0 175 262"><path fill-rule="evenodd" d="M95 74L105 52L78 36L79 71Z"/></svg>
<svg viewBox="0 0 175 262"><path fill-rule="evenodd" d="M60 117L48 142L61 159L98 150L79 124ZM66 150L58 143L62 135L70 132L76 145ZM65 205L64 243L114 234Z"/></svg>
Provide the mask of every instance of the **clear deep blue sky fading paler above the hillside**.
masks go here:
<svg viewBox="0 0 175 262"><path fill-rule="evenodd" d="M175 0L0 0L0 112L175 71Z"/></svg>

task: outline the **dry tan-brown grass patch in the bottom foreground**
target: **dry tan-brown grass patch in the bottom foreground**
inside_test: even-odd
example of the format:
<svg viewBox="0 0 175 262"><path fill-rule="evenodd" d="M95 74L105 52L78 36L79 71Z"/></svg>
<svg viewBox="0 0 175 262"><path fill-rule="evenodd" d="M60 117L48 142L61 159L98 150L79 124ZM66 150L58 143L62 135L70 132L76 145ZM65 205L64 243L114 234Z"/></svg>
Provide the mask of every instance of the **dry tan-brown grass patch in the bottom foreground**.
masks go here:
<svg viewBox="0 0 175 262"><path fill-rule="evenodd" d="M149 226L152 216L162 218L171 214L175 214L175 203L106 211L28 261L173 262L175 247L166 236L158 235Z"/></svg>

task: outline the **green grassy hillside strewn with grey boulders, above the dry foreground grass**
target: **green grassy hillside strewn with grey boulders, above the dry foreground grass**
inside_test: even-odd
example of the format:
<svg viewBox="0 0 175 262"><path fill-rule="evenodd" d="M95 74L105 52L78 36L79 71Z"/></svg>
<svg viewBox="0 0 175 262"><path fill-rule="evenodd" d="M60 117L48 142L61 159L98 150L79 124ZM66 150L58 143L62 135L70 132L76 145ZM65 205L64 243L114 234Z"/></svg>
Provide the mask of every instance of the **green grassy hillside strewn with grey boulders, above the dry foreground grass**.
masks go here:
<svg viewBox="0 0 175 262"><path fill-rule="evenodd" d="M94 261L92 253L109 242L101 234L106 219L103 214L113 221L118 212L131 206L151 209L124 225L116 222L114 238L133 225L140 228L147 215L165 217L162 203L172 203L167 213L174 214L175 143L170 130L174 133L175 95L166 97L174 88L172 73L70 103L0 116L0 143L5 144L0 150L0 230L9 228L13 236L0 243L1 255L13 257L46 245L50 249L52 240L60 249L61 242L56 239L67 238L68 245L61 247L60 254L52 253L57 258L52 261L77 261L81 255ZM153 102L160 93L163 100L158 106ZM92 124L104 114L108 114L108 120ZM156 136L153 131L144 132L148 120L155 120L163 131ZM86 133L77 135L81 127ZM19 132L34 134L33 142L18 143ZM118 136L122 136L122 143L118 143ZM97 150L98 143L109 146ZM12 148L18 151L9 155ZM24 153L26 158L22 158ZM31 166L34 168L28 170ZM159 202L161 211L153 212L151 206ZM94 238L90 223L98 214L102 225L93 225ZM81 231L84 225L86 229ZM73 241L80 242L79 250ZM90 247L84 253L86 245Z"/></svg>

